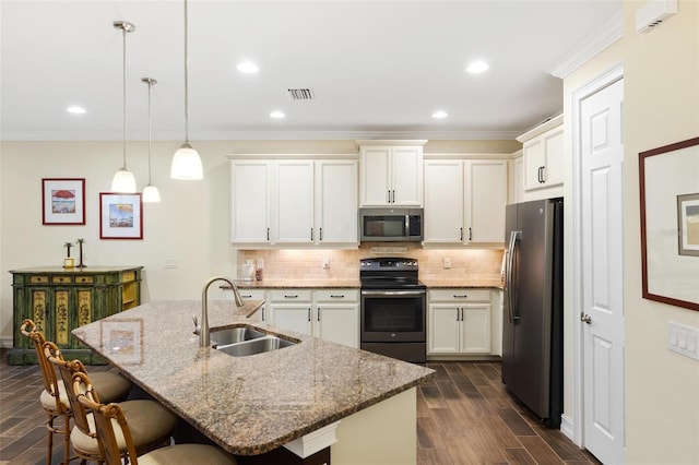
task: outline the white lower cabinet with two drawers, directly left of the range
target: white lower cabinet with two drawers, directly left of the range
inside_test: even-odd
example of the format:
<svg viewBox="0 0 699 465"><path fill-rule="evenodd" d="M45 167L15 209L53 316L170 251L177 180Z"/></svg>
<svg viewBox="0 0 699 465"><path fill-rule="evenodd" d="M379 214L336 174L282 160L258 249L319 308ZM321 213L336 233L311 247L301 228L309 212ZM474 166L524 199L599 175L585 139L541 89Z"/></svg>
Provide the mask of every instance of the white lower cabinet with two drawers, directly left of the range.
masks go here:
<svg viewBox="0 0 699 465"><path fill-rule="evenodd" d="M275 327L359 347L357 289L273 289L268 295Z"/></svg>

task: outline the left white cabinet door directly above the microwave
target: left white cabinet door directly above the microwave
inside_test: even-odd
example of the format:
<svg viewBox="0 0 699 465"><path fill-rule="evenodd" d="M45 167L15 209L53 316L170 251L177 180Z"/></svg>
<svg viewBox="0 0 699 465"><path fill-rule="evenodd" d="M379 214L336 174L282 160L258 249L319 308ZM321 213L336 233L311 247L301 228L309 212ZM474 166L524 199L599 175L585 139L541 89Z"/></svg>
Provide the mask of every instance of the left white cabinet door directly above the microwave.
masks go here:
<svg viewBox="0 0 699 465"><path fill-rule="evenodd" d="M390 147L362 148L362 206L389 204Z"/></svg>

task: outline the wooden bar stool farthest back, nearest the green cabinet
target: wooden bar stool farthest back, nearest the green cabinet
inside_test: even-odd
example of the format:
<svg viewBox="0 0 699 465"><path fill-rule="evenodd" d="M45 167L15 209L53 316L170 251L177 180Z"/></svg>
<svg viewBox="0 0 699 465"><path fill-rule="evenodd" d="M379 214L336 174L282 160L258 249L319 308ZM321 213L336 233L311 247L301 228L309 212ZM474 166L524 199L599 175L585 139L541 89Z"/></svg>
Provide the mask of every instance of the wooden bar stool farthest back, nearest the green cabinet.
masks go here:
<svg viewBox="0 0 699 465"><path fill-rule="evenodd" d="M46 429L48 430L48 451L46 454L46 463L51 464L54 450L54 434L63 434L63 464L70 462L70 418L72 412L70 401L68 398L66 386L58 382L58 375L54 366L48 362L44 356L44 335L37 330L36 323L32 320L24 320L20 331L27 336L34 344L36 359L42 368L44 378L44 391L39 396L42 407L46 412L48 419ZM97 372L93 374L95 389L99 391L104 398L109 402L126 398L131 390L132 383L122 375L114 372ZM55 421L59 419L59 424Z"/></svg>

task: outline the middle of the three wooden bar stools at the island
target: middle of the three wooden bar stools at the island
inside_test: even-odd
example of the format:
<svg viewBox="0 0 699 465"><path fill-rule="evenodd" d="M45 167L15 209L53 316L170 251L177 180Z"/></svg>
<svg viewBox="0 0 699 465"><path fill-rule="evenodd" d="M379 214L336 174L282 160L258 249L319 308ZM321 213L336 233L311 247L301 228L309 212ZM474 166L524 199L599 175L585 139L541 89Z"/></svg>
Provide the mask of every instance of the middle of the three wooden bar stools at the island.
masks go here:
<svg viewBox="0 0 699 465"><path fill-rule="evenodd" d="M76 373L87 377L85 366L80 360L63 360L58 347L50 342L44 344L44 354L46 359L58 368L58 372L66 383L75 424L70 432L70 443L75 454L83 461L104 463L107 457L97 440L93 414L78 402L80 392L76 393L72 386L72 379ZM92 391L92 398L99 402L95 390ZM126 401L114 405L119 405L131 420L133 445L138 451L146 452L169 444L170 433L179 420L170 410L155 401L146 400ZM122 445L126 451L126 443L122 442Z"/></svg>

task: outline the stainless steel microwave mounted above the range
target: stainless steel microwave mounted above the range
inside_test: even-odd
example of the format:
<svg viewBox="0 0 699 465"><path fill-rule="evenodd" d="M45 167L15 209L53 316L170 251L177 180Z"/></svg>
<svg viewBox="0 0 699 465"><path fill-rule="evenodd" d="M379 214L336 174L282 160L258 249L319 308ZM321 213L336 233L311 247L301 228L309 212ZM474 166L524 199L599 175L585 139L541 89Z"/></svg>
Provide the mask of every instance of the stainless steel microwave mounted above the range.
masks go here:
<svg viewBox="0 0 699 465"><path fill-rule="evenodd" d="M365 242L423 240L423 208L359 208L359 238Z"/></svg>

